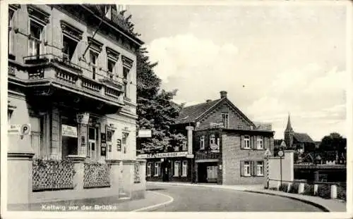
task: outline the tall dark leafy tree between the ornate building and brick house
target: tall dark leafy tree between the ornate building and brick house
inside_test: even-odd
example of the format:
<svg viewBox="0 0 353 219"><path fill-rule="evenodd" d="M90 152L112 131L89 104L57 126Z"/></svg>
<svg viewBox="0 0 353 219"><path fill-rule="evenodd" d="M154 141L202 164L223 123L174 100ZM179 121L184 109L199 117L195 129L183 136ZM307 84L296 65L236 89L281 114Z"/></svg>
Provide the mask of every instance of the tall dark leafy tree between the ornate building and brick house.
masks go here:
<svg viewBox="0 0 353 219"><path fill-rule="evenodd" d="M121 11L124 18L125 11ZM133 29L131 15L124 18L128 25L128 32L138 37L140 34ZM151 63L148 51L145 48L137 51L137 130L152 130L152 138L138 139L138 151L156 153L169 151L172 146L180 145L185 141L183 134L170 130L175 123L183 104L174 103L173 97L177 89L167 92L160 89L162 80L155 74L153 68L157 63Z"/></svg>

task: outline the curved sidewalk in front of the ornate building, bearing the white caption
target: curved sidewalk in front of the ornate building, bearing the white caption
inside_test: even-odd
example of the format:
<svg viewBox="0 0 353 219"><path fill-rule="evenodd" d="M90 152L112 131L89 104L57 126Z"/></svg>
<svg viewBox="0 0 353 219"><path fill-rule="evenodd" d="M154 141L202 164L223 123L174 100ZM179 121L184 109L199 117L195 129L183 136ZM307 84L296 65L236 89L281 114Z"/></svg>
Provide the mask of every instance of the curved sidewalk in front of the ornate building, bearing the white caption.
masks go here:
<svg viewBox="0 0 353 219"><path fill-rule="evenodd" d="M97 199L77 199L30 204L30 211L151 211L167 205L172 197L158 192L146 191L145 199L119 199L117 196ZM8 206L8 211L28 211L26 206Z"/></svg>

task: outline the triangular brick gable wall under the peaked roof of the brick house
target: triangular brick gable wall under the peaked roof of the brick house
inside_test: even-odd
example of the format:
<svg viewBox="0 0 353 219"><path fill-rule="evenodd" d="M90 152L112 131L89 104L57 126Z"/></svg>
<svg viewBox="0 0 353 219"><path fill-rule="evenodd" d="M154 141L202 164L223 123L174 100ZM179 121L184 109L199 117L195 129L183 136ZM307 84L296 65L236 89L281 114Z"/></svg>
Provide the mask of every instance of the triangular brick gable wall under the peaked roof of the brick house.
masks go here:
<svg viewBox="0 0 353 219"><path fill-rule="evenodd" d="M246 122L237 111L235 111L227 101L223 101L220 106L217 106L213 111L205 115L200 120L200 125L196 130L203 130L210 127L210 123L221 123L222 113L228 113L229 128L237 129L239 126L250 127L249 123Z"/></svg>

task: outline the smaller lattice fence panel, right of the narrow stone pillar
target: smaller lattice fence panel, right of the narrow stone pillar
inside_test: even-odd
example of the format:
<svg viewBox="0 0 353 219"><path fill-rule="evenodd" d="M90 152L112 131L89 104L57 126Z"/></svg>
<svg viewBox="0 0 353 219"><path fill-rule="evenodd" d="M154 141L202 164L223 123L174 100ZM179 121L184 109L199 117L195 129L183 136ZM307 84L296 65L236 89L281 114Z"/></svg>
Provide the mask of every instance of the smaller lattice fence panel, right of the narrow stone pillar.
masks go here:
<svg viewBox="0 0 353 219"><path fill-rule="evenodd" d="M83 188L110 187L110 165L107 163L85 163Z"/></svg>

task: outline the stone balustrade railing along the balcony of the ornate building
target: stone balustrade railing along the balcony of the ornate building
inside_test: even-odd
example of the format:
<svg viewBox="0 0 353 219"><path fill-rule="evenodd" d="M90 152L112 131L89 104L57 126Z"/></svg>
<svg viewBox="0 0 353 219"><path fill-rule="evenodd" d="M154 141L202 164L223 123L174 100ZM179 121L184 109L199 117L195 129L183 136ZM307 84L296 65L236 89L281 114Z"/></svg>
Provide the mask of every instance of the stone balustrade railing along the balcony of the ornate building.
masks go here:
<svg viewBox="0 0 353 219"><path fill-rule="evenodd" d="M37 61L33 61L37 60ZM28 80L54 79L55 82L65 83L80 90L95 92L123 101L124 86L121 82L112 80L105 75L95 73L96 78L89 77L92 71L53 54L40 56L26 56L24 58L28 67ZM48 70L52 66L55 70ZM45 69L45 70L44 70Z"/></svg>

